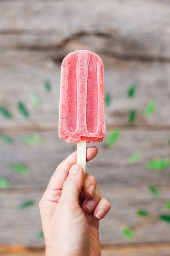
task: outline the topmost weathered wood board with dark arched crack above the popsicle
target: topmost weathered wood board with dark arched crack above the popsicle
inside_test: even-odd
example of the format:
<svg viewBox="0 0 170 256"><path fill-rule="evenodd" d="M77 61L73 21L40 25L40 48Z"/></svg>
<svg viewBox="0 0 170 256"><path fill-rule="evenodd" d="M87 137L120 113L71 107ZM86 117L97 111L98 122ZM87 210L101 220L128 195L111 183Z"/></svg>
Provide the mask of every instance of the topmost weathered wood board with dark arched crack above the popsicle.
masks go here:
<svg viewBox="0 0 170 256"><path fill-rule="evenodd" d="M84 48L170 60L169 1L1 1L1 49ZM79 42L80 39L80 42Z"/></svg>

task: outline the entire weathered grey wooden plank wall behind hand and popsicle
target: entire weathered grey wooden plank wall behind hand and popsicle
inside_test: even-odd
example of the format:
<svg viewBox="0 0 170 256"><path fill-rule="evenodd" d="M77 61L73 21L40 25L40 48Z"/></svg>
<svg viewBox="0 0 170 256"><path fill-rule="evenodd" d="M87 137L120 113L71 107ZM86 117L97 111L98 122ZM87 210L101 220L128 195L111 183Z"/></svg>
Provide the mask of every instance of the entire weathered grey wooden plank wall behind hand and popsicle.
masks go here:
<svg viewBox="0 0 170 256"><path fill-rule="evenodd" d="M105 111L106 136L96 145L96 158L87 163L87 172L96 177L112 206L100 221L102 255L169 256L169 225L157 217L169 213L164 209L170 199L169 168L154 172L145 167L147 160L170 152L169 9L169 0L0 1L0 104L13 114L12 119L0 115L0 132L14 139L12 144L0 140L0 176L11 182L10 189L1 189L2 255L44 255L44 240L37 236L38 203L56 166L76 148L58 138L61 62L69 52L86 49L102 58L105 91L111 95ZM50 92L44 88L45 79L50 80ZM132 82L137 83L137 92L128 99ZM40 96L39 107L31 103L33 92ZM27 105L29 119L18 112L19 100ZM157 107L146 118L150 100ZM133 108L137 117L128 125ZM116 127L121 130L119 141L108 149L106 138ZM25 144L23 135L34 133L42 136L42 145ZM128 158L137 150L142 157L131 165ZM11 163L28 165L30 173L18 175ZM151 184L160 190L159 199L151 195ZM19 208L22 201L32 199L33 206ZM150 217L138 216L137 208L149 211ZM122 226L133 230L131 244L121 234Z"/></svg>

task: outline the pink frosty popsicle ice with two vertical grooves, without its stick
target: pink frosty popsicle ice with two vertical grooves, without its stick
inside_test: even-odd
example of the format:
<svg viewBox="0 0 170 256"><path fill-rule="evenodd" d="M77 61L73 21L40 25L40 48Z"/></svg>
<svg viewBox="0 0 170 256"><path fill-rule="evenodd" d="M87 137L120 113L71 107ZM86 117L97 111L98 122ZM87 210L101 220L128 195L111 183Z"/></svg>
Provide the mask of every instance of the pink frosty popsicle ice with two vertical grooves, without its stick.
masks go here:
<svg viewBox="0 0 170 256"><path fill-rule="evenodd" d="M89 51L70 53L61 68L59 137L100 142L105 131L103 62Z"/></svg>

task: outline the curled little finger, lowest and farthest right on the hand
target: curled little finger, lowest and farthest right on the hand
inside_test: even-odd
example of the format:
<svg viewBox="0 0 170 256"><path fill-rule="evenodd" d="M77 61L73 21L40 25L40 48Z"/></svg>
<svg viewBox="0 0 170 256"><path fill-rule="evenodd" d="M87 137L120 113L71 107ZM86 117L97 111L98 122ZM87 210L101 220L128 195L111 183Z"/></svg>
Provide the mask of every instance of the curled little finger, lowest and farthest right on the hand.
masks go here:
<svg viewBox="0 0 170 256"><path fill-rule="evenodd" d="M103 219L106 216L106 214L109 212L110 208L111 208L110 202L106 198L101 197L94 211L95 218L98 220Z"/></svg>

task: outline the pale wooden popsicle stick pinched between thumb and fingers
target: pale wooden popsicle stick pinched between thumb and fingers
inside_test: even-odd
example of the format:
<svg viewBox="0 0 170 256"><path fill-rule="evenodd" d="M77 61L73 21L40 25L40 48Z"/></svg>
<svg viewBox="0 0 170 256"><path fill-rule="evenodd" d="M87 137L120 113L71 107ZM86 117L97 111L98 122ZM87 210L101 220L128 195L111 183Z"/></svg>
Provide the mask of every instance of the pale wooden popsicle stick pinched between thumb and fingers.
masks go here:
<svg viewBox="0 0 170 256"><path fill-rule="evenodd" d="M80 165L84 172L85 181L85 160L86 160L86 141L81 140L77 142L77 161L76 164Z"/></svg>

